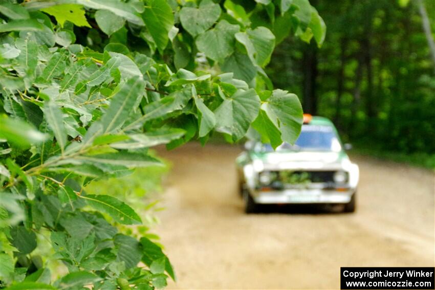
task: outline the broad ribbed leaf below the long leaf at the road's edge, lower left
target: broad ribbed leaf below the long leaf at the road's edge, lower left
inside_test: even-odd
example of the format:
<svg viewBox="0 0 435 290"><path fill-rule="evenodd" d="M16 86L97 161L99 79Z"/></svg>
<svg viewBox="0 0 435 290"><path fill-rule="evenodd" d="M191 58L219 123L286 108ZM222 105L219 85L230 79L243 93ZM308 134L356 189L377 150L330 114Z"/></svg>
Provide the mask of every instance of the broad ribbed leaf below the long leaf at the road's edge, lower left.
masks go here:
<svg viewBox="0 0 435 290"><path fill-rule="evenodd" d="M126 269L137 266L142 257L140 243L133 237L115 235L113 238L117 251L117 260L125 263Z"/></svg>

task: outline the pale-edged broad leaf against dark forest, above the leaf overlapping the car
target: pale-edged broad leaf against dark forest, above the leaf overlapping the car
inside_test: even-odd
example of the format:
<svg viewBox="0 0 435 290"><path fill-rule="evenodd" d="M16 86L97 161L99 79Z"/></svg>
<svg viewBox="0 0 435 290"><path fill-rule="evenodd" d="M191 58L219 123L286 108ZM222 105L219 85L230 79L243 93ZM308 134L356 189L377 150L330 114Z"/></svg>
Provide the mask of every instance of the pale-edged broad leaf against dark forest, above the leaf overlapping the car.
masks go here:
<svg viewBox="0 0 435 290"><path fill-rule="evenodd" d="M247 29L246 32L236 33L235 38L245 46L253 63L262 67L268 64L275 47L275 35L268 28Z"/></svg>

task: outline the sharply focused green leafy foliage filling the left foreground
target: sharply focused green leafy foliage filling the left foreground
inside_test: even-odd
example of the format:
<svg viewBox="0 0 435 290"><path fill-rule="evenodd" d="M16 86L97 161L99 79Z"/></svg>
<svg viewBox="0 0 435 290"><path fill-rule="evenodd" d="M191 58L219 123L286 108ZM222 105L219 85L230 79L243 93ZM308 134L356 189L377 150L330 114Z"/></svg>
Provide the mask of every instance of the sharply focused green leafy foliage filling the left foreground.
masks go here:
<svg viewBox="0 0 435 290"><path fill-rule="evenodd" d="M128 198L92 183L162 165L148 154L158 144L213 131L237 141L259 111L265 139L293 142L300 103L263 68L291 30L319 45L325 33L308 0L11 0L0 13L0 280L11 289L175 279L160 246L128 230L142 222ZM41 240L52 257L35 254ZM68 274L52 281L49 258Z"/></svg>

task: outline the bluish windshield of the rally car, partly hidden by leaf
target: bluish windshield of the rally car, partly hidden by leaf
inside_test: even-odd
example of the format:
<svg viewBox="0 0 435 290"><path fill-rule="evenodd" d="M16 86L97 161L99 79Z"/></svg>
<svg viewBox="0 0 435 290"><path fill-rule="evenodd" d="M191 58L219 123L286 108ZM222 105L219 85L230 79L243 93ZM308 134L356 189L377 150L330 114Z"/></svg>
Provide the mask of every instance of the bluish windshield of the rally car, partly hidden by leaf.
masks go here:
<svg viewBox="0 0 435 290"><path fill-rule="evenodd" d="M264 144L266 151L273 151L270 144ZM276 148L276 151L289 150L321 150L335 151L341 150L340 142L331 126L320 125L302 125L299 138L295 145L282 143Z"/></svg>

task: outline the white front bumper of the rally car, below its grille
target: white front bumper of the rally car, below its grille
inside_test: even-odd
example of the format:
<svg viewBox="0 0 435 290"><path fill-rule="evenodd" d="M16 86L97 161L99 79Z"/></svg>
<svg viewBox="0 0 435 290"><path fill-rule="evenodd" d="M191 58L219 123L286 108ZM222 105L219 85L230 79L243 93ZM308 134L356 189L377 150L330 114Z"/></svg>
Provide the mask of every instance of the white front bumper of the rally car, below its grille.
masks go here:
<svg viewBox="0 0 435 290"><path fill-rule="evenodd" d="M347 204L355 189L284 189L251 192L257 204Z"/></svg>

